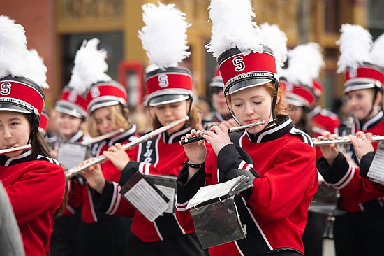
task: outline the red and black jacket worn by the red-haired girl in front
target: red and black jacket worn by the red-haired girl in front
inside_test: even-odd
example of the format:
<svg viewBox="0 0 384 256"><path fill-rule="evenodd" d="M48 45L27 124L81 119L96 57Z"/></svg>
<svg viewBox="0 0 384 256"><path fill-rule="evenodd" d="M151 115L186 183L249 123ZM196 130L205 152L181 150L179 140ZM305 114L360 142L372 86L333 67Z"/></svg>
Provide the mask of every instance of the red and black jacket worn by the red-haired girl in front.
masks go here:
<svg viewBox="0 0 384 256"><path fill-rule="evenodd" d="M210 255L258 255L290 250L303 253L302 234L313 194L318 189L316 152L311 138L293 127L290 118L252 135L230 134L216 157L212 151L205 170L187 180L184 166L177 178L177 219L193 230L186 204L201 186L225 181L230 169L256 173L250 194L235 196L246 239L209 248Z"/></svg>

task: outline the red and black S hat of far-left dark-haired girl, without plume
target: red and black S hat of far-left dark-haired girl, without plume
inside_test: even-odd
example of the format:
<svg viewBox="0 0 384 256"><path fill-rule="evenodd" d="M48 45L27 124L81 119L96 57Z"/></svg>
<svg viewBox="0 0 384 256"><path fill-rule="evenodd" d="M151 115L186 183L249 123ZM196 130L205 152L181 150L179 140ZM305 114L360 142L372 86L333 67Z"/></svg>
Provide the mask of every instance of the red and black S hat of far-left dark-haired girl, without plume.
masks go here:
<svg viewBox="0 0 384 256"><path fill-rule="evenodd" d="M32 80L6 77L0 80L0 110L33 113L40 118L44 106L44 92Z"/></svg>

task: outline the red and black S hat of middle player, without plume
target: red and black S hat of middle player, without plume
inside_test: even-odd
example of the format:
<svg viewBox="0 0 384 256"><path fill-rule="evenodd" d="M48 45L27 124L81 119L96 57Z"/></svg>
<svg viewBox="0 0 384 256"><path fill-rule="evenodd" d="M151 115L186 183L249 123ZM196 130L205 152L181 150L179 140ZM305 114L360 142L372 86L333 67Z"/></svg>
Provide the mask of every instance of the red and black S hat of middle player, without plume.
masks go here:
<svg viewBox="0 0 384 256"><path fill-rule="evenodd" d="M154 102L165 104L184 100L186 96L189 97L192 94L191 71L183 67L150 71L145 75L145 82L149 106Z"/></svg>

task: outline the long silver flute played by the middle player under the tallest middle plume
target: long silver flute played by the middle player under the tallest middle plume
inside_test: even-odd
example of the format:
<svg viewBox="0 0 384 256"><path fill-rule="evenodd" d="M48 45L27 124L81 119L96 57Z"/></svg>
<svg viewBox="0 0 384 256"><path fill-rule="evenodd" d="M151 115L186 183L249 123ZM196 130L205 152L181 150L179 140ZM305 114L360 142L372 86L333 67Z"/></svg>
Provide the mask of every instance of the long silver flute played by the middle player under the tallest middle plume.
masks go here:
<svg viewBox="0 0 384 256"><path fill-rule="evenodd" d="M176 120L175 122L171 122L169 125L165 125L165 126L160 127L154 131L151 131L148 134L141 136L140 138L138 138L135 141L124 144L123 150L128 150L130 148L133 148L135 145L142 143L142 141L147 141L147 140L149 140L149 138L152 138L158 134L161 134L164 131L171 129L172 127L175 127L177 125L181 125L188 120L189 120L189 116L186 115L184 118L180 118L179 120ZM91 160L87 159L84 162L82 162L82 164L75 166L71 169L68 169L66 171L66 178L72 178L73 176L76 176L77 174L81 173L82 171L88 169L89 167L91 167L95 164L101 163L101 162L105 161L106 159L107 159L107 157L105 157L104 155L99 155L98 157L95 157L94 159L91 159Z"/></svg>

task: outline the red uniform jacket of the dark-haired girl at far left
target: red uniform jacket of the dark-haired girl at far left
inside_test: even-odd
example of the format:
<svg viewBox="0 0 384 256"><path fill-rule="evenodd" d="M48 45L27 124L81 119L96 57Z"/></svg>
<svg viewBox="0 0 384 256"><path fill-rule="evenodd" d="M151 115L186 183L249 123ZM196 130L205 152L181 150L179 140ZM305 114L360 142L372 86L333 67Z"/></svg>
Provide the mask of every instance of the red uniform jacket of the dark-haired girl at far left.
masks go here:
<svg viewBox="0 0 384 256"><path fill-rule="evenodd" d="M0 157L3 182L19 225L26 255L49 253L53 216L66 190L64 169L57 160L32 151L17 157Z"/></svg>

